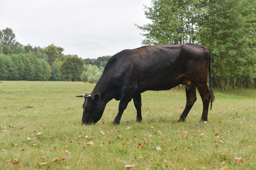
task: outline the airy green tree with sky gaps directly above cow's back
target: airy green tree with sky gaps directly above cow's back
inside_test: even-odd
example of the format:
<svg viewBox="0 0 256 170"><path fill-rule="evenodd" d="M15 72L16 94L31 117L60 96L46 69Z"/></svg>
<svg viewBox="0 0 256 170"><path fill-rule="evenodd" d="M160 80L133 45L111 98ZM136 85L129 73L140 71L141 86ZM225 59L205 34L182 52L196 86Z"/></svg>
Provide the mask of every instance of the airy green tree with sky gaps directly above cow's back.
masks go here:
<svg viewBox="0 0 256 170"><path fill-rule="evenodd" d="M202 13L198 0L152 0L145 7L145 15L151 22L137 25L144 33L144 45L184 44L197 41L196 28Z"/></svg>

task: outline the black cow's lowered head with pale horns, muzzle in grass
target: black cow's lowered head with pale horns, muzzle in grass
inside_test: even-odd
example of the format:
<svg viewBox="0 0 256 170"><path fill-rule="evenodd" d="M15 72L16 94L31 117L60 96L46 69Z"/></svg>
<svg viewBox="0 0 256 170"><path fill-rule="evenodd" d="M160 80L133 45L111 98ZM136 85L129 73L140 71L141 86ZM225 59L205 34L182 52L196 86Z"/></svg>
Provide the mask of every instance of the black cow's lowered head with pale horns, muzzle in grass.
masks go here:
<svg viewBox="0 0 256 170"><path fill-rule="evenodd" d="M76 97L85 98L83 102L83 117L82 124L95 124L103 114L106 104L101 101L101 95L95 94L82 94Z"/></svg>

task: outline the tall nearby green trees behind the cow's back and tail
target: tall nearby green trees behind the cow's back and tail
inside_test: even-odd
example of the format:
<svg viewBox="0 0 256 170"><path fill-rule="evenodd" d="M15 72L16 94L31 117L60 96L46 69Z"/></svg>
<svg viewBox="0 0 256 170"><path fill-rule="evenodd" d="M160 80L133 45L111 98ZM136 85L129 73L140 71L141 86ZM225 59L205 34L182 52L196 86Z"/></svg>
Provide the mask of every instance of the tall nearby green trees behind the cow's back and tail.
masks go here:
<svg viewBox="0 0 256 170"><path fill-rule="evenodd" d="M200 44L211 52L215 87L256 83L255 0L152 0L145 7L144 45Z"/></svg>

